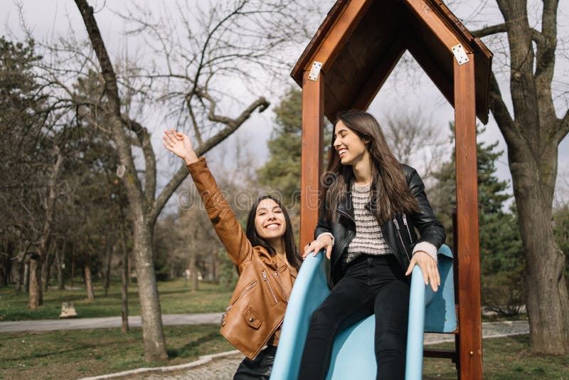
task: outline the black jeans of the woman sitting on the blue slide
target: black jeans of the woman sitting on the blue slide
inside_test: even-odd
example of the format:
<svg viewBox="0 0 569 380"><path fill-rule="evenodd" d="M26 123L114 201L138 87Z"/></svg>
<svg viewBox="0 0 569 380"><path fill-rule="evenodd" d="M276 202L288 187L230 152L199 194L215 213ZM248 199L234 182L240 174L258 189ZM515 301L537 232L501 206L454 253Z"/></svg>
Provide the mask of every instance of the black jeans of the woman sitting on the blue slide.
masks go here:
<svg viewBox="0 0 569 380"><path fill-rule="evenodd" d="M377 378L405 378L409 281L394 255L358 256L312 313L299 379L325 379L334 337L375 313Z"/></svg>

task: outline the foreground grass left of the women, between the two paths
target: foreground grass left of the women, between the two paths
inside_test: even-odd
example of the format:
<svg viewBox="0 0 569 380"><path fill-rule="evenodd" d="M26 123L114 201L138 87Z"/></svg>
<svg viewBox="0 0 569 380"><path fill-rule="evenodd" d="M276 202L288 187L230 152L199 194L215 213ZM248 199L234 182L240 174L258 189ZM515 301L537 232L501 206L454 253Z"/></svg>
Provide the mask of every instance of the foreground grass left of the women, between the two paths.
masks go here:
<svg viewBox="0 0 569 380"><path fill-rule="evenodd" d="M213 324L164 327L169 361L184 364L201 355L233 350ZM144 361L142 330L94 329L1 334L0 379L78 379L160 366Z"/></svg>

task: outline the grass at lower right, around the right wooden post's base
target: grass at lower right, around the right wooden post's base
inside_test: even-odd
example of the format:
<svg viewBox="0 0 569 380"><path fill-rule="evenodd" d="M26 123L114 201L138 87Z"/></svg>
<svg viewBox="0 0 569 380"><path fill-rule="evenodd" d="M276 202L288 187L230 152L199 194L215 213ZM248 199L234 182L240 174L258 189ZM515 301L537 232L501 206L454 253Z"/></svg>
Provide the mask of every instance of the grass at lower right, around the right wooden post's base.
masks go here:
<svg viewBox="0 0 569 380"><path fill-rule="evenodd" d="M432 347L451 349L454 343ZM569 355L553 357L533 354L528 335L484 339L482 352L484 379L569 379ZM457 371L449 359L427 358L423 376L425 379L457 379Z"/></svg>

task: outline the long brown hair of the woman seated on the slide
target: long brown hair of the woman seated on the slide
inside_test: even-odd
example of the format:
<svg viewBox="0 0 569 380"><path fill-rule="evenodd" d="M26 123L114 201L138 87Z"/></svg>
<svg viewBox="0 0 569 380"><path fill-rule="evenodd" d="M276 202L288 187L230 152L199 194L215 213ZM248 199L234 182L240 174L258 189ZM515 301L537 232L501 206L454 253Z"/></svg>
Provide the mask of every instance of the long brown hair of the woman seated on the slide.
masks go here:
<svg viewBox="0 0 569 380"><path fill-rule="evenodd" d="M338 115L336 125L340 121L363 141L367 141L366 147L371 159L371 210L377 220L384 223L397 213L419 211L417 200L410 194L401 164L389 149L376 118L367 112L348 111ZM323 181L326 216L332 221L336 219L334 211L337 206L349 193L351 181L352 167L341 163L332 137L328 169Z"/></svg>

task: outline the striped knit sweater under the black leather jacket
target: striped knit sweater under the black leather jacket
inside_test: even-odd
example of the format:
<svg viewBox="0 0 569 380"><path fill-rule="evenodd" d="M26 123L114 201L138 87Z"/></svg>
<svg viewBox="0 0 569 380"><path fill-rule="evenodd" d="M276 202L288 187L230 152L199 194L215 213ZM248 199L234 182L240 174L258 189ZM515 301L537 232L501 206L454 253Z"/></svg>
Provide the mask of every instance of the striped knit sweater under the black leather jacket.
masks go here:
<svg viewBox="0 0 569 380"><path fill-rule="evenodd" d="M351 186L353 216L356 220L356 237L353 238L348 253L344 257L345 263L351 262L361 254L389 255L391 248L381 234L381 228L375 216L366 209L370 200L371 184Z"/></svg>

